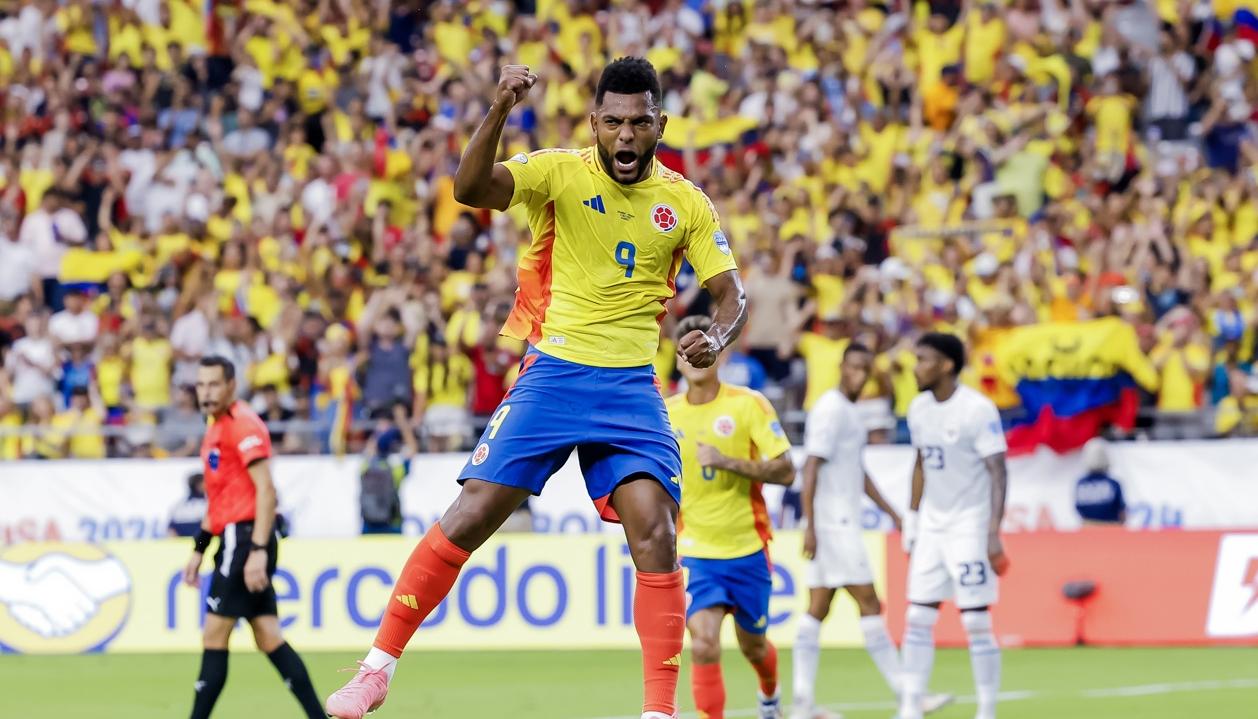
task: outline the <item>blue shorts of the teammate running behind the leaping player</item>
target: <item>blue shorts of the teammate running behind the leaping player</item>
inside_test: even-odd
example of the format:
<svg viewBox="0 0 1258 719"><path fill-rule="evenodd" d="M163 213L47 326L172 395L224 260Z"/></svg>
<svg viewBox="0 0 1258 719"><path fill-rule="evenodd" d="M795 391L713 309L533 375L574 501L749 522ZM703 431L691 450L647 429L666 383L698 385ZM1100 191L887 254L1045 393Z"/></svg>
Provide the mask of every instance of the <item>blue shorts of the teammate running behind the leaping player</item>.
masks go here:
<svg viewBox="0 0 1258 719"><path fill-rule="evenodd" d="M686 568L686 618L708 607L726 607L749 634L769 630L769 596L774 577L769 553L761 549L737 559L683 557Z"/></svg>

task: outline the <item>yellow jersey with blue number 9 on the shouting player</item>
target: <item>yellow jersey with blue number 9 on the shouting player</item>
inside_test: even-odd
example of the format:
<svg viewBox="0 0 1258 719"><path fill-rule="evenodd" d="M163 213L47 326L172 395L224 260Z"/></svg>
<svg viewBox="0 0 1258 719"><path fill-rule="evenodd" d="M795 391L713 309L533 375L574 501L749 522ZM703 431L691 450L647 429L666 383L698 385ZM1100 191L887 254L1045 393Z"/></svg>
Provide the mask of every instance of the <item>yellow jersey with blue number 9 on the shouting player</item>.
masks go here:
<svg viewBox="0 0 1258 719"><path fill-rule="evenodd" d="M659 162L621 185L594 147L538 150L503 162L532 243L502 333L594 367L650 365L684 255L701 283L737 269L711 200Z"/></svg>

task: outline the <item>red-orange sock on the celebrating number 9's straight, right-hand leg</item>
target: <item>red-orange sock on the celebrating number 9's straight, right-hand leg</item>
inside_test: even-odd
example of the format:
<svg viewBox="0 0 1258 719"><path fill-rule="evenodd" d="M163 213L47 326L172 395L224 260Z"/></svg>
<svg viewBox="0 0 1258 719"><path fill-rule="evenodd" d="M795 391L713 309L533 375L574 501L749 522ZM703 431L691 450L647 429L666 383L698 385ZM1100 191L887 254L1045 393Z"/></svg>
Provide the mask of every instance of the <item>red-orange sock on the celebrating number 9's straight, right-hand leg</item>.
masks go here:
<svg viewBox="0 0 1258 719"><path fill-rule="evenodd" d="M682 669L686 632L686 590L682 571L638 572L633 626L642 642L643 711L677 711L677 675Z"/></svg>

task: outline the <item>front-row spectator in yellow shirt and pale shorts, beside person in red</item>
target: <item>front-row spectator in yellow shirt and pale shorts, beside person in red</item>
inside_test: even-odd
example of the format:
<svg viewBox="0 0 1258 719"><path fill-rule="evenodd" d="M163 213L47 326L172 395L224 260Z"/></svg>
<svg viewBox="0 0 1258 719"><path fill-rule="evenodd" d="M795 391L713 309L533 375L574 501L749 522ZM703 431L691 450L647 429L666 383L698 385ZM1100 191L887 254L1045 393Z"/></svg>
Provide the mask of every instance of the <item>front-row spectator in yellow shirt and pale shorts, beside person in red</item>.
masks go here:
<svg viewBox="0 0 1258 719"><path fill-rule="evenodd" d="M468 386L472 363L444 338L429 343L428 362L414 375L415 416L423 417L429 451L457 451L472 434Z"/></svg>

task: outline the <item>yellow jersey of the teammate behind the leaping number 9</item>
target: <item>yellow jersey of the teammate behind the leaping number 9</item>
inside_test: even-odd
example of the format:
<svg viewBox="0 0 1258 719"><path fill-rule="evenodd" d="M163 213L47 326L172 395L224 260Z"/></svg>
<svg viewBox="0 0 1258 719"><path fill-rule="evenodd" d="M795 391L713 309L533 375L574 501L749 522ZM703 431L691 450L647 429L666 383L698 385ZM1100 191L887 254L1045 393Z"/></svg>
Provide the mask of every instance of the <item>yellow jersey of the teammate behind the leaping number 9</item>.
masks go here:
<svg viewBox="0 0 1258 719"><path fill-rule="evenodd" d="M774 459L790 451L777 412L760 392L721 385L711 402L692 405L686 393L665 402L682 450L682 510L677 548L686 557L735 559L759 552L772 537L761 483L732 471L699 466L698 442L733 459Z"/></svg>

